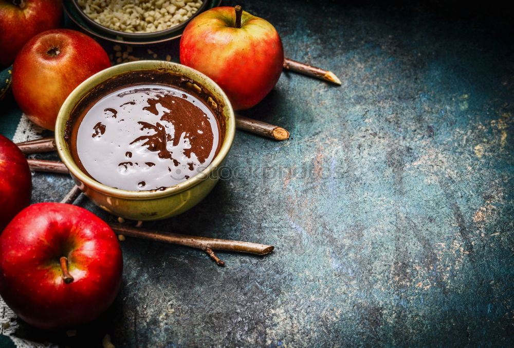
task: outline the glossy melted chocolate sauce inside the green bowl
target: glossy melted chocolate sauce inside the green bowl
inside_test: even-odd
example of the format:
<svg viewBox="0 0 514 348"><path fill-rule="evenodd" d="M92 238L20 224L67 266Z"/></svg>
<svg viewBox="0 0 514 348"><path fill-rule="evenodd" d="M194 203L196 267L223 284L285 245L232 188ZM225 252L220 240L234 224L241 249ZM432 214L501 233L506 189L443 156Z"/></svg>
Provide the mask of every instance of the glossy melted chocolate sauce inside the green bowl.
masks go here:
<svg viewBox="0 0 514 348"><path fill-rule="evenodd" d="M172 86L108 93L72 127L72 155L98 182L124 190L170 187L204 170L221 146L210 107Z"/></svg>

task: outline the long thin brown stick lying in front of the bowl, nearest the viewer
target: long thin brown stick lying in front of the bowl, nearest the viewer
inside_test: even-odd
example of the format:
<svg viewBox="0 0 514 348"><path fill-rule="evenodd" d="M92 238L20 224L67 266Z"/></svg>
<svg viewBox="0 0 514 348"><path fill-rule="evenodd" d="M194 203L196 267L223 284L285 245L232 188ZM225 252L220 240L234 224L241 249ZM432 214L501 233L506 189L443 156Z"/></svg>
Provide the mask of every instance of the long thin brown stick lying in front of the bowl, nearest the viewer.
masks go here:
<svg viewBox="0 0 514 348"><path fill-rule="evenodd" d="M172 244L201 249L205 252L208 252L207 249L210 248L212 250L237 251L242 253L266 255L272 252L274 249L273 246L251 243L247 241L215 239L178 233L150 231L119 223L109 223L109 226L111 226L114 232L124 236L164 241Z"/></svg>

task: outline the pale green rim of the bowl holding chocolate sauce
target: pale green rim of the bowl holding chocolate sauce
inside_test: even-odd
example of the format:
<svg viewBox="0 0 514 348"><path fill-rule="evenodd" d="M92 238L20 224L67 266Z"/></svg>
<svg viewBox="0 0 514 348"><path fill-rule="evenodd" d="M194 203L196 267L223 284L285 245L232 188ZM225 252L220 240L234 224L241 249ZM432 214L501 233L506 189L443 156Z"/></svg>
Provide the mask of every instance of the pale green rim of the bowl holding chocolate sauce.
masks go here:
<svg viewBox="0 0 514 348"><path fill-rule="evenodd" d="M189 178L186 181L182 181L176 185L167 187L163 190L150 190L150 191L129 191L123 190L119 188L114 188L111 186L107 186L101 184L95 179L87 176L75 161L71 157L70 150L68 148L67 142L64 139L64 134L67 126L67 120L71 114L71 111L77 105L77 102L80 101L91 89L105 81L108 78L112 78L114 76L131 72L131 71L141 71L141 70L155 70L155 69L166 69L173 73L173 67L177 69L175 74L187 74L186 76L193 80L201 80L205 79L207 83L200 84L206 87L208 90L214 90L222 97L222 102L225 104L225 108L227 108L228 115L226 116L226 130L225 137L222 139L222 146L219 148L219 152L214 157L212 162L200 173ZM200 79L198 79L200 78ZM228 116L228 117L227 117ZM230 101L216 82L210 79L208 76L200 73L199 71L178 63L168 62L168 61L157 61L157 60L140 60L135 62L127 62L118 65L114 65L103 69L102 71L88 77L81 84L79 84L66 98L61 109L59 110L59 114L56 120L56 130L55 130L55 139L57 145L57 152L61 161L66 165L70 174L77 178L81 183L85 184L87 187L96 190L102 194L112 197L125 198L125 199L133 199L133 200L141 200L141 199L155 199L155 198L163 198L171 195L175 195L177 193L183 192L193 186L196 186L200 182L208 179L214 169L216 169L223 160L225 156L228 154L230 147L232 146L232 142L234 140L235 134L235 116L234 110L232 109L232 105Z"/></svg>

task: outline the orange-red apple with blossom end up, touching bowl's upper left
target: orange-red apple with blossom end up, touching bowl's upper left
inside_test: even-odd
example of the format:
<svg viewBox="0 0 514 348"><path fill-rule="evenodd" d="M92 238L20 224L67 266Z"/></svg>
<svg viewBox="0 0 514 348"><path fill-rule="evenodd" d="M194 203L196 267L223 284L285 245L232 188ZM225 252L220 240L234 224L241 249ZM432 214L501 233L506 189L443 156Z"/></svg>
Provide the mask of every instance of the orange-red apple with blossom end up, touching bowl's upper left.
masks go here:
<svg viewBox="0 0 514 348"><path fill-rule="evenodd" d="M105 50L86 34L47 30L30 39L16 56L12 93L30 120L53 130L59 109L71 91L109 66Z"/></svg>

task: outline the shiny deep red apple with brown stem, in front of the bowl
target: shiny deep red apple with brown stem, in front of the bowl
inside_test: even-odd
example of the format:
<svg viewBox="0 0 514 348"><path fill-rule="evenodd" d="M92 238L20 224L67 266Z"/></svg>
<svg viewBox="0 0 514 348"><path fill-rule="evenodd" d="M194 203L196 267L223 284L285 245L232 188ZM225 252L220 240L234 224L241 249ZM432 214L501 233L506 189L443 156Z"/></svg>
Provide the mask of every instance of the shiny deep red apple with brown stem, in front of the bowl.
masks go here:
<svg viewBox="0 0 514 348"><path fill-rule="evenodd" d="M122 268L113 230L75 205L30 205L0 235L0 295L39 328L98 317L116 297Z"/></svg>

